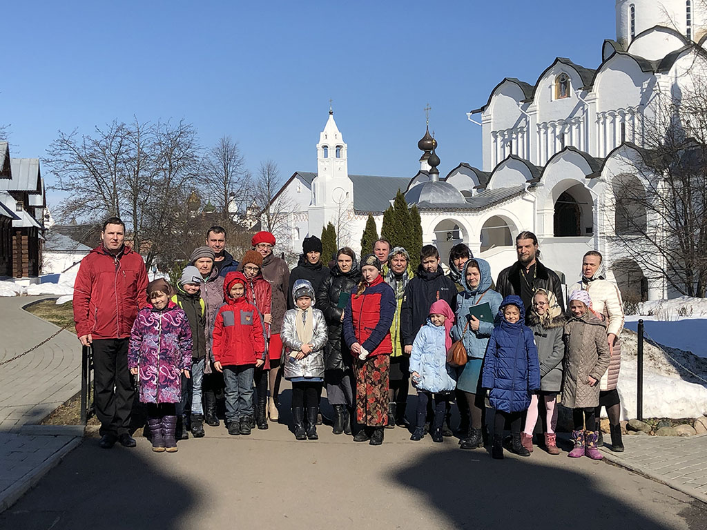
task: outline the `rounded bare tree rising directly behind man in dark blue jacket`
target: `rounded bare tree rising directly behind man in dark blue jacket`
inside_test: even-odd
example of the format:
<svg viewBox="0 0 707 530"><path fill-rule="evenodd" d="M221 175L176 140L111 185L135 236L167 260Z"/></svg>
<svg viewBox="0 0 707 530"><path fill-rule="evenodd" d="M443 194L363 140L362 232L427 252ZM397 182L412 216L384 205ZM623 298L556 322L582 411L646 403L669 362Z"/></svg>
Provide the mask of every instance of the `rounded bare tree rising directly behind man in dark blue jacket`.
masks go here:
<svg viewBox="0 0 707 530"><path fill-rule="evenodd" d="M214 201L222 221L233 220L230 206L240 211L245 204L243 187L248 176L238 142L230 136L221 136L204 157L203 182L206 195Z"/></svg>

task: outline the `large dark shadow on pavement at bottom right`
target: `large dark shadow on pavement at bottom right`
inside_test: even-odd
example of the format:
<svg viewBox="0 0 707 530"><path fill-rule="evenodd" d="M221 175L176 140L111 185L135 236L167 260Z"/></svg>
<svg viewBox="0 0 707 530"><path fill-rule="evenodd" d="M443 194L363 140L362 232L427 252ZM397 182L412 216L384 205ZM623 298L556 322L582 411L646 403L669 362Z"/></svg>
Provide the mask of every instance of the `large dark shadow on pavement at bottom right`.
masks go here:
<svg viewBox="0 0 707 530"><path fill-rule="evenodd" d="M566 459L566 455L557 458ZM612 488L606 485L602 488L600 479L595 478L600 476L597 471L599 469L568 471L533 462L532 457L520 460L506 456L496 461L482 449L473 452L446 449L426 453L409 462L398 468L391 479L421 495L428 510L439 512L444 521L440 521L440 527L684 528L679 522L672 526L666 521L656 521L622 502L612 494ZM615 493L616 488L613 489ZM641 493L631 493L642 498ZM641 502L648 508L660 499L645 498ZM655 511L655 505L651 509ZM699 521L703 515L701 511Z"/></svg>

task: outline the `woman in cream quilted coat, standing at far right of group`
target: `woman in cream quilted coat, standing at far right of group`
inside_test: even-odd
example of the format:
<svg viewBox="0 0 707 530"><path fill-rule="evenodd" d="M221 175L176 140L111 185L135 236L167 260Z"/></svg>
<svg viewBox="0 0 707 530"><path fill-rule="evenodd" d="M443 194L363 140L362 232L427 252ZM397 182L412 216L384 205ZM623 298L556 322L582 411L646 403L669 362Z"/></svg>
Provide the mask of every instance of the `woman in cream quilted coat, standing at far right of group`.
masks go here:
<svg viewBox="0 0 707 530"><path fill-rule="evenodd" d="M590 250L582 260L582 279L569 288L569 293L576 290L586 290L592 298L592 312L604 319L607 326L607 344L611 354L609 370L599 383L599 406L597 406L598 444L604 444L602 431L598 426L602 406L607 409L609 429L611 430L614 452L623 452L624 443L621 440L621 398L617 390L619 371L621 370L621 331L624 329L624 304L621 301L621 291L616 284L604 278L602 254Z"/></svg>

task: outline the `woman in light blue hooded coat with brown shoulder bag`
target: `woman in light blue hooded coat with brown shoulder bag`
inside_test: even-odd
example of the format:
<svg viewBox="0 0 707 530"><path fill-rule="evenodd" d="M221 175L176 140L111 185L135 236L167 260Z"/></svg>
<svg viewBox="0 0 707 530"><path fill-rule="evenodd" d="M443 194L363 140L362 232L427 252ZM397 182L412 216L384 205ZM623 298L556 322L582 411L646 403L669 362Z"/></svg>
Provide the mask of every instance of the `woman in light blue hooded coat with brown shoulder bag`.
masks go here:
<svg viewBox="0 0 707 530"><path fill-rule="evenodd" d="M459 341L463 337L464 348L469 356L467 364L459 368L457 378L457 400L464 399L468 404L468 416L464 414L467 407L460 407L460 444L462 449L477 449L484 445L481 425L484 425L486 411L484 392L478 391L479 379L486 345L489 343L494 324L470 317L469 308L488 303L491 308L489 314L497 317L503 297L491 290L491 266L483 259L469 259L464 264L460 281L464 290L457 295L457 319L452 328L452 338Z"/></svg>

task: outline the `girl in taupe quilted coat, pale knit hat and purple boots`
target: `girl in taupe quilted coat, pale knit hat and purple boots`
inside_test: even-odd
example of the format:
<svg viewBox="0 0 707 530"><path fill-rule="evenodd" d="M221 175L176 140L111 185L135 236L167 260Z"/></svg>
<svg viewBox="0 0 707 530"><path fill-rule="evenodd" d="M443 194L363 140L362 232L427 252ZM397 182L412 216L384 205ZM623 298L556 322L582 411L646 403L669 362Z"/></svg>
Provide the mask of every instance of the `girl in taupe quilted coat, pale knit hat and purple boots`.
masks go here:
<svg viewBox="0 0 707 530"><path fill-rule="evenodd" d="M562 404L572 408L574 449L569 456L600 460L597 449L595 408L599 405L599 381L609 367L609 344L604 323L590 311L592 299L585 290L570 296L571 318L564 329L565 366Z"/></svg>

